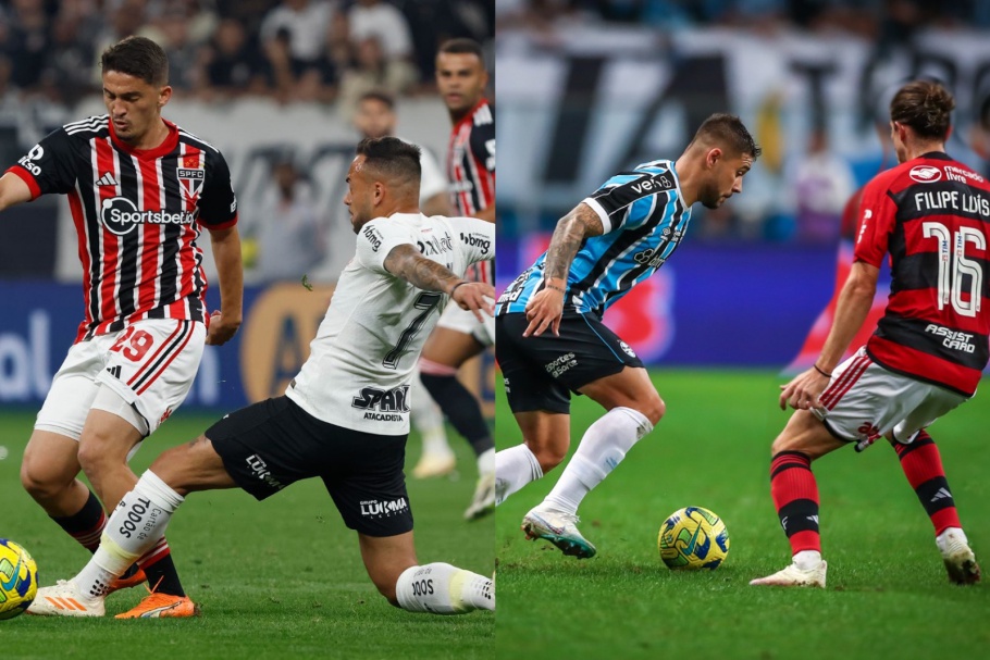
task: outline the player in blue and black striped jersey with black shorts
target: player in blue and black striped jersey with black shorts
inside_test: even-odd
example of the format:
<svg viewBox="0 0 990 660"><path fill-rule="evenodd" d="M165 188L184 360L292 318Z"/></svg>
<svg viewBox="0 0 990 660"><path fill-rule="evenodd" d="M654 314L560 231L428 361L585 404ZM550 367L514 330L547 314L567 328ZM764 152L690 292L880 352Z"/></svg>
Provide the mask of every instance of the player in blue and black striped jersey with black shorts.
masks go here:
<svg viewBox="0 0 990 660"><path fill-rule="evenodd" d="M695 202L716 209L742 191L759 153L739 117L711 115L676 162L619 173L565 215L547 251L499 297L495 353L524 441L496 453L497 503L567 456L571 393L606 410L550 494L523 519L528 538L545 538L565 555L594 556L576 526L578 506L665 410L643 363L602 315L670 258Z"/></svg>

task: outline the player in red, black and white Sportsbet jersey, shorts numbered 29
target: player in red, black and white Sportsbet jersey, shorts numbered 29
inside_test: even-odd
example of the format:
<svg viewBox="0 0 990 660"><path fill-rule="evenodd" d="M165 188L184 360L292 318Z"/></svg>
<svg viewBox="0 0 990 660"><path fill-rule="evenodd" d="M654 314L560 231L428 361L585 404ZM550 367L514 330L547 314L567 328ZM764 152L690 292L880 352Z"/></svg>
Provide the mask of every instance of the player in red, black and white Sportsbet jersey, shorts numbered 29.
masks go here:
<svg viewBox="0 0 990 660"><path fill-rule="evenodd" d="M0 210L65 195L78 233L83 322L38 414L21 480L90 550L103 508L112 511L136 482L129 454L185 399L203 345L237 331L243 295L231 175L220 151L162 119L172 94L164 51L129 37L101 65L108 114L66 124L0 178ZM202 227L220 275L222 311L212 317ZM96 495L76 478L81 466ZM154 594L136 613L194 613L164 540L138 564L143 573L106 588L147 575Z"/></svg>

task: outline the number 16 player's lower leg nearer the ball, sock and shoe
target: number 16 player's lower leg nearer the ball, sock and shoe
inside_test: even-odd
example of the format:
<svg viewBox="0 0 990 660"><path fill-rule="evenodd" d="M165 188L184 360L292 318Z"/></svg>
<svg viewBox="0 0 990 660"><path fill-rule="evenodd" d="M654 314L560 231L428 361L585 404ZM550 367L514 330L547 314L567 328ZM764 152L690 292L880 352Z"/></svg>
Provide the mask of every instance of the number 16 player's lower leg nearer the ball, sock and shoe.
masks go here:
<svg viewBox="0 0 990 660"><path fill-rule="evenodd" d="M780 451L770 461L770 494L793 561L785 569L750 582L757 586L821 587L828 565L821 559L818 533L818 485L812 459L800 451Z"/></svg>

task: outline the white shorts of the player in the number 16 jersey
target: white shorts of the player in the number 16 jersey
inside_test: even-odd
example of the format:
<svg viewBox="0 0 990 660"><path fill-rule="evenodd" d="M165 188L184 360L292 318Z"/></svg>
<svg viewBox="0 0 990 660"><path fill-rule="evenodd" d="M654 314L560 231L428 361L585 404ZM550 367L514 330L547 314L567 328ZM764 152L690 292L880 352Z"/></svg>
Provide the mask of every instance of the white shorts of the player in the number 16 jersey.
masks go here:
<svg viewBox="0 0 990 660"><path fill-rule="evenodd" d="M861 348L836 368L819 397L825 408L813 412L842 440L875 440L893 431L894 439L908 444L918 431L968 400L938 385L888 371Z"/></svg>

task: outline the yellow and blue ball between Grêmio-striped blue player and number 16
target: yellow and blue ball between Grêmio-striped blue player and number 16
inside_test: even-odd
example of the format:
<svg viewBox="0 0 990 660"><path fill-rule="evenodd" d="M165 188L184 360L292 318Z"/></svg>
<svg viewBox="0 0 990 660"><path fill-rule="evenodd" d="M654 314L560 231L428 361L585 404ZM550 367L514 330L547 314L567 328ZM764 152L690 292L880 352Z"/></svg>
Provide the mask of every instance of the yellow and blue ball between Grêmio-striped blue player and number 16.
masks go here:
<svg viewBox="0 0 990 660"><path fill-rule="evenodd" d="M688 507L664 521L657 547L668 569L715 570L729 553L729 531L711 511Z"/></svg>

